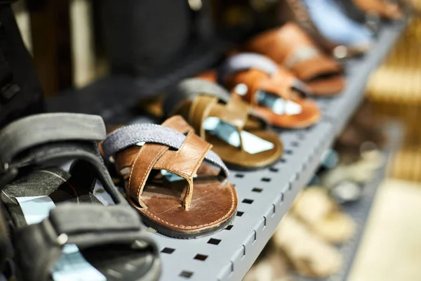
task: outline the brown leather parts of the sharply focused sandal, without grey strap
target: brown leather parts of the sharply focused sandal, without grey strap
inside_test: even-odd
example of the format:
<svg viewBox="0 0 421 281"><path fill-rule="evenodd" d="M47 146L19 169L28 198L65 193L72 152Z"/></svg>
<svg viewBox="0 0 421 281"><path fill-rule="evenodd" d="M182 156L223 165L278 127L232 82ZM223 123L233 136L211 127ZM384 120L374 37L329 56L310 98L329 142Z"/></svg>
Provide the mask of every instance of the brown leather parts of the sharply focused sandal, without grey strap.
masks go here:
<svg viewBox="0 0 421 281"><path fill-rule="evenodd" d="M115 155L117 171L130 169L130 173L122 174L128 201L161 233L166 233L162 228L175 236L217 229L235 214L234 186L227 178L220 178L218 169L202 163L211 145L195 136L181 117L171 117L162 125L180 133L188 131L182 148L168 150L166 145L146 143ZM160 169L185 181L168 182L156 173Z"/></svg>

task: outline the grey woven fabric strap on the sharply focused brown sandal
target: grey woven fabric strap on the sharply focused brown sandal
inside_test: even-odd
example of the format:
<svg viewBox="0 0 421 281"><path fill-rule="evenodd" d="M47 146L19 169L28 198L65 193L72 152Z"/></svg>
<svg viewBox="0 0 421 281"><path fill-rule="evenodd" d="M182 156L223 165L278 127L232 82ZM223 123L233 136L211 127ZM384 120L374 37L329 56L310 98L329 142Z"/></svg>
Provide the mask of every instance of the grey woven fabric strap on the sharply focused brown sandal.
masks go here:
<svg viewBox="0 0 421 281"><path fill-rule="evenodd" d="M159 143L178 150L182 143L184 143L185 138L186 136L182 133L178 133L178 131L166 126L156 124L133 124L124 126L110 133L107 138L105 138L105 141L102 142L102 150L107 158L131 145L142 142ZM220 167L224 172L225 177L228 178L229 171L227 166L225 166L215 152L209 150L205 159Z"/></svg>

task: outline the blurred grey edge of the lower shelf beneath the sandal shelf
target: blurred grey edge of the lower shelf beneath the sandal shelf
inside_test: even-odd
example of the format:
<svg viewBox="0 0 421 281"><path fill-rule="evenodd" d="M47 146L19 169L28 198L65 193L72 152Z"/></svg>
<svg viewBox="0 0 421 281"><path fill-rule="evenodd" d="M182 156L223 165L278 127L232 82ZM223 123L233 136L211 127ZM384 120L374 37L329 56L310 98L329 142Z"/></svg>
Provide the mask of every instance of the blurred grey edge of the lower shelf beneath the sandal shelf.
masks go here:
<svg viewBox="0 0 421 281"><path fill-rule="evenodd" d="M401 143L401 126L399 124L392 124L387 128L387 136L389 145L388 148L385 150L384 157L385 157L385 165L378 169L373 176L372 180L366 183L363 187L363 195L361 200L358 202L354 202L351 204L345 204L342 206L342 209L347 213L349 216L356 223L356 231L354 237L349 242L342 244L338 247L340 253L342 254L343 259L343 267L339 273L332 275L326 279L313 279L309 277L302 277L302 276L295 276L295 280L297 281L345 281L347 280L347 276L349 271L352 268L352 264L354 261L354 257L356 255L356 251L358 250L359 244L361 242L361 237L363 235L364 228L366 226L366 222L368 219L368 215L370 214L371 206L373 205L373 201L375 199L375 195L377 192L377 188L379 187L380 183L382 183L383 178L385 177L387 171L387 160L391 158L392 154L396 149L399 147L399 143Z"/></svg>

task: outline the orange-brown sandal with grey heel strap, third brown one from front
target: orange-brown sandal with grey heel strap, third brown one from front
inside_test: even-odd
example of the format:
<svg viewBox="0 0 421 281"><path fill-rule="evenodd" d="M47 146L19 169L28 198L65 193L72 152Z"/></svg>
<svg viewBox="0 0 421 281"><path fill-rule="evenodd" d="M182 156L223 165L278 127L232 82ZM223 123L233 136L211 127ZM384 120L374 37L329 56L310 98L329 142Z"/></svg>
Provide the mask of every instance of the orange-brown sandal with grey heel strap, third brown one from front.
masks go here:
<svg viewBox="0 0 421 281"><path fill-rule="evenodd" d="M222 65L220 80L274 126L300 129L321 119L319 106L307 98L311 88L263 55L234 55Z"/></svg>

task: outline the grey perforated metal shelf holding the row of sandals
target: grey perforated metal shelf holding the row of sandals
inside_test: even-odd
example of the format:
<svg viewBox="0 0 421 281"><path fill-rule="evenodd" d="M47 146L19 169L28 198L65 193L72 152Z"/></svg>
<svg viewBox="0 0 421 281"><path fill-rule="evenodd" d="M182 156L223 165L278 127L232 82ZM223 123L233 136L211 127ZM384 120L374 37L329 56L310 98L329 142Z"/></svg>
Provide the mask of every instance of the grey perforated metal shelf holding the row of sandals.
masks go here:
<svg viewBox="0 0 421 281"><path fill-rule="evenodd" d="M259 171L232 171L230 181L236 186L239 206L231 226L193 240L150 234L161 249L161 280L243 278L316 171L323 152L356 110L368 75L380 64L404 26L405 22L385 26L373 51L347 62L348 87L340 96L319 100L324 113L319 124L309 129L279 131L284 145L281 161Z"/></svg>

